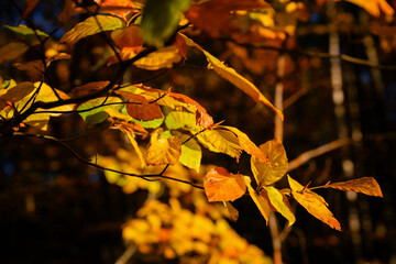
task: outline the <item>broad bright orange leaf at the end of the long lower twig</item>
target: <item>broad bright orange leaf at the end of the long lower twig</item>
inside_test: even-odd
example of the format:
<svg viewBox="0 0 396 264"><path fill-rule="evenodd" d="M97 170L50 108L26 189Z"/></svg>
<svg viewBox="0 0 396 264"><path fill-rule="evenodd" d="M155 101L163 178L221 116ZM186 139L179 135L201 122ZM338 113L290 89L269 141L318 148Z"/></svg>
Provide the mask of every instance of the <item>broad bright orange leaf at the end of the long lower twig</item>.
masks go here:
<svg viewBox="0 0 396 264"><path fill-rule="evenodd" d="M206 175L204 188L209 201L235 200L246 191L243 176L222 167L213 168Z"/></svg>

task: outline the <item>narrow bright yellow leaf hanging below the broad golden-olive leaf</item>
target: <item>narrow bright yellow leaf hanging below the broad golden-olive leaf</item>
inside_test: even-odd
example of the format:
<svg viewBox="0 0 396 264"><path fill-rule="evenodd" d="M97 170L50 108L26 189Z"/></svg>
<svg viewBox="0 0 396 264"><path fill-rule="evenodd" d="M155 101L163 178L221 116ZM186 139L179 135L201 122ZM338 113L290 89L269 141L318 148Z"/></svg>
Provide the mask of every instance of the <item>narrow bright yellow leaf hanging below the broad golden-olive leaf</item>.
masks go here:
<svg viewBox="0 0 396 264"><path fill-rule="evenodd" d="M287 199L285 200L285 197L275 187L264 186L263 188L266 191L271 206L288 220L288 226L290 227L296 221L296 217L293 215Z"/></svg>

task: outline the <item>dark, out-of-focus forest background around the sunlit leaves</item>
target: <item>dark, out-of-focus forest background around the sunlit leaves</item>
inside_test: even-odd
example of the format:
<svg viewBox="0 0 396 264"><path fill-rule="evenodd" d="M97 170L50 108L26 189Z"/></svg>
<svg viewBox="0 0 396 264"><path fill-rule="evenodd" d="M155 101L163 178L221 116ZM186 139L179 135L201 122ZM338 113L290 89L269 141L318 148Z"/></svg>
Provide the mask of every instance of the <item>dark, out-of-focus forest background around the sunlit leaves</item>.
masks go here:
<svg viewBox="0 0 396 264"><path fill-rule="evenodd" d="M20 13L10 2L21 8L25 4L19 0L1 1L2 25L18 25L20 22ZM337 2L332 6L337 12L331 18L327 3L318 2L299 1L305 8L290 14L285 9L288 1L271 1L278 12L274 25L288 23L287 19L293 16L295 20L289 26L296 28L292 29L294 34L286 38L278 37L276 31L262 32L262 36L266 37L262 47L253 47L249 42L239 45L230 41L227 34L223 37L211 37L210 32L189 32L202 47L252 80L271 101L279 81L277 58L279 53L285 54L285 75L282 79L284 145L289 161L339 138L340 122L334 113L331 59L326 56L329 54L331 26L338 33L342 54L372 62L373 56L376 56L382 65L396 62L396 25L393 15L373 18L350 2ZM395 4L394 1L389 2ZM56 16L62 8L61 0L42 0L29 19L37 29L48 33L58 26ZM74 16L54 34L54 38L59 38L84 18L84 14ZM0 46L9 42L9 37L10 34L2 29ZM55 41L47 45L48 50L51 45L57 48ZM37 59L35 48L30 48L20 58L21 62ZM107 53L109 48L100 36L81 40L73 50L72 61L55 62L48 69L54 87L68 92L80 84L110 79L118 66L106 67L103 57ZM228 125L241 129L256 144L273 139L274 116L271 110L255 105L232 85L208 72L206 65L205 57L191 50L188 51L188 61L172 69L148 72L132 67L124 78L131 81L147 80L145 85L156 88L172 87L173 91L201 103L216 121L226 120ZM395 264L395 69L367 67L346 61L341 61L340 67L344 91L341 105L345 109L342 125L348 138L353 138L352 133L356 133L358 129L362 140L314 158L293 170L292 175L304 185L312 180L312 186L350 177L375 177L383 189L384 199L319 190L341 222L342 232L330 229L292 204L296 208L297 221L283 241L283 258L286 263L304 264ZM3 77L16 80L26 78L24 72L16 70L8 63L3 63L0 70ZM34 75L28 78L38 79ZM85 124L77 114L52 119L48 130L61 139L75 138L68 143L86 157L122 156L121 150L131 150L127 139L116 130L105 131L98 127L97 132L84 135ZM147 182L138 184L141 189L135 190L135 187L130 186L133 191L125 186L121 188L109 184L103 173L88 168L67 151L38 139L18 139L0 147L2 261L114 263L123 254L128 245L122 240L122 224L133 217L144 217L144 212L138 213L138 210L147 196L153 193L155 196L155 191L147 191ZM250 158L244 154L238 164L226 155L206 151L202 158L202 164L216 164L230 172L251 174ZM177 169L185 168L174 169L177 174ZM353 175L345 175L349 172ZM202 176L193 177L198 179ZM286 183L280 182L279 187L283 184L286 186ZM189 186L178 188L185 200L201 199L201 190ZM240 218L238 222L228 224L271 256L273 249L270 230L254 204L242 198L234 206L240 211ZM174 205L173 210L175 208L177 205ZM279 219L280 229L284 224L284 219ZM144 257L140 261L160 263L160 260L164 261ZM164 263L178 261L168 258ZM193 262L185 260L186 263L188 261ZM139 262L132 258L131 263Z"/></svg>

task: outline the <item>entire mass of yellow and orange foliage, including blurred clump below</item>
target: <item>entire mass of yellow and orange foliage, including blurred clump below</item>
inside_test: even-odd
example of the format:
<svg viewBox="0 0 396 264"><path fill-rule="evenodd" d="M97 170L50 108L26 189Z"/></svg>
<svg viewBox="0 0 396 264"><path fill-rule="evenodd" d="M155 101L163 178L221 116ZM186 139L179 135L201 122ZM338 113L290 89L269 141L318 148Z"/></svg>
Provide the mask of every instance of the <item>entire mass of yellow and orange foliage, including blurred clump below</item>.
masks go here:
<svg viewBox="0 0 396 264"><path fill-rule="evenodd" d="M375 18L394 14L385 0L345 1ZM26 2L22 20L40 1ZM317 4L324 7L327 2L333 3L318 0ZM189 97L188 91L156 87L151 80L162 70L191 66L200 57L206 63L197 66L199 70L224 79L250 98L246 103L256 103L282 124L283 107L272 102L272 97L249 76L204 47L202 40L229 42L235 56L244 57L244 67L260 73L260 65L240 48L272 45L282 52L296 47L296 26L307 20L307 7L295 1L96 0L86 4L65 0L57 18L59 29L65 29L59 38L53 36L55 32L43 32L30 23L6 25L14 41L2 44L0 62L22 72L24 78L1 76L2 144L19 138L51 141L91 169L103 172L107 180L125 194L147 190L150 198L136 217L122 226L124 241L142 255L185 262L198 257L199 263L271 263L228 223L227 219L238 221L233 206L237 199L249 196L249 202L263 216L263 224L268 224L276 212L287 227L293 227L298 219L290 204L297 201L311 216L341 231L343 227L328 202L315 190L383 197L378 184L363 177L302 185L289 169L282 134L254 142L243 128L216 120L210 108ZM111 77L88 82L70 80L67 86L56 87L48 72L59 62L77 59L74 52L90 37L106 43L96 54L101 62L98 70L110 68ZM41 53L37 59L24 57L36 47ZM135 81L128 77L131 68L144 69L148 77ZM95 153L86 157L53 134L51 121L56 118L70 123L77 118L84 122L78 130L84 128L86 134L98 129L117 130L125 139L124 145L112 155ZM250 173L204 164L206 153L227 155L235 163L248 155ZM278 185L282 179L284 184Z"/></svg>

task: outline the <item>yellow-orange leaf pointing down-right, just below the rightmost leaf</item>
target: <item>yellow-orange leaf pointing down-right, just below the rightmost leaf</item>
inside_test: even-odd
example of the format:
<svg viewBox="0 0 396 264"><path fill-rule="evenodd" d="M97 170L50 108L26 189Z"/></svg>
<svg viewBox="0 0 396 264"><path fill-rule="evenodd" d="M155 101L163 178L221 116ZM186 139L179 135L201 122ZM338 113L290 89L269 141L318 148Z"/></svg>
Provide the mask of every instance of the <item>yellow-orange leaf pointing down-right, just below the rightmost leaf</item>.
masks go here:
<svg viewBox="0 0 396 264"><path fill-rule="evenodd" d="M340 222L328 209L326 202L323 202L323 199L318 198L319 195L314 195L315 193L309 191L302 193L301 190L295 190L294 188L299 184L290 177L288 177L288 180L292 187L292 195L298 201L298 204L300 204L310 215L324 222L330 228L341 231ZM294 182L296 182L297 184ZM301 187L304 189L304 186L301 185L298 187L298 189L300 189Z"/></svg>

